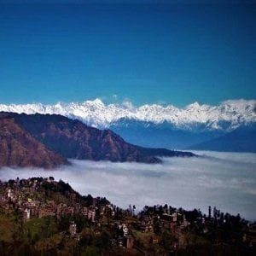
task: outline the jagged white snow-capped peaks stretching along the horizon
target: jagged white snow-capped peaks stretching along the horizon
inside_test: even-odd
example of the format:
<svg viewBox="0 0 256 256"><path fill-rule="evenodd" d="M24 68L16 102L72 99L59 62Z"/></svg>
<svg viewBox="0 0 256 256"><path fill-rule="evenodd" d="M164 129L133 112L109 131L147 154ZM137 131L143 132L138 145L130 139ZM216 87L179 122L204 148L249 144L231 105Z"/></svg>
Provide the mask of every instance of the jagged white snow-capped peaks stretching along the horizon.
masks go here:
<svg viewBox="0 0 256 256"><path fill-rule="evenodd" d="M98 128L108 128L119 121L139 121L154 125L167 123L177 129L190 130L195 125L204 125L207 130L232 131L241 125L256 122L256 100L228 100L218 106L198 102L185 108L172 105L143 105L135 107L131 102L105 104L100 99L85 102L55 105L0 104L0 111L14 113L57 113Z"/></svg>

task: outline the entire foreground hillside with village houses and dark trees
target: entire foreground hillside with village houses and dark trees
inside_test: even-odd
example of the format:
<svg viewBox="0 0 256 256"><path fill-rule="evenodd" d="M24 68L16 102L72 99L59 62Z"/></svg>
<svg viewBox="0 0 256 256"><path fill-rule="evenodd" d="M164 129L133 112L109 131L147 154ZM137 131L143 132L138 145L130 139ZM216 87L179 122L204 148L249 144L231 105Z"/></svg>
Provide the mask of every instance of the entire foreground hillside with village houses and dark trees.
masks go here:
<svg viewBox="0 0 256 256"><path fill-rule="evenodd" d="M54 177L0 181L1 255L255 255L255 242L255 223L216 207L137 213Z"/></svg>

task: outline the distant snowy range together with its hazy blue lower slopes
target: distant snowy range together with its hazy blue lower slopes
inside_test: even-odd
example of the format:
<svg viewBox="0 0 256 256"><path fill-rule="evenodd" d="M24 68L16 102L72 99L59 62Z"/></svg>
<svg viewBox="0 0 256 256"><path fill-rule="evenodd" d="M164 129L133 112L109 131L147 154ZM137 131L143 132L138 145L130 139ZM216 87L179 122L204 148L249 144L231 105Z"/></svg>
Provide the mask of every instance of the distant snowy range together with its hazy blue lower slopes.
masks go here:
<svg viewBox="0 0 256 256"><path fill-rule="evenodd" d="M247 131L247 126L256 129L256 100L229 100L218 106L195 102L185 108L176 108L157 104L134 107L131 102L104 104L96 99L55 105L0 104L0 110L28 114L61 114L70 119L79 119L85 125L110 129L129 143L172 150L196 149L199 144L201 149L210 150L212 147L206 142L237 129L245 128ZM247 152L254 150L251 146L247 147L249 144L244 143L241 133L237 133L237 136L234 143L230 143L229 151L237 151L237 148ZM221 148L219 144L217 148L223 151L225 147Z"/></svg>

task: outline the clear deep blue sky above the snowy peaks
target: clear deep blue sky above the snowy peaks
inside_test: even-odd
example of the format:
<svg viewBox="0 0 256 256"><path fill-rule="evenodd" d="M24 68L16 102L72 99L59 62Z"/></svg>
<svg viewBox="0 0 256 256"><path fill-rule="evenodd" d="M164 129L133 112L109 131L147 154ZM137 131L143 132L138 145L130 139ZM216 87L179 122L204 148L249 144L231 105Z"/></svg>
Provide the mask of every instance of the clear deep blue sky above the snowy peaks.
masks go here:
<svg viewBox="0 0 256 256"><path fill-rule="evenodd" d="M256 98L254 4L3 2L0 103Z"/></svg>

